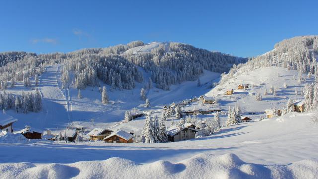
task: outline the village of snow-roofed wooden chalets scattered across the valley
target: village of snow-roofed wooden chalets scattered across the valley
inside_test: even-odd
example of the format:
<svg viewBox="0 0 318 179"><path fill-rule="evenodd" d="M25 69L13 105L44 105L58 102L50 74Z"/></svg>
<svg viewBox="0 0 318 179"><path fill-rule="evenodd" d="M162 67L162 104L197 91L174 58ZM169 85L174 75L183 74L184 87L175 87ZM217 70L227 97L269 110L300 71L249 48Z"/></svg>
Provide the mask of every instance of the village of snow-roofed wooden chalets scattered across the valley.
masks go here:
<svg viewBox="0 0 318 179"><path fill-rule="evenodd" d="M250 88L249 84L239 84L237 89L226 89L224 96L233 96L236 95L235 91L246 91ZM202 95L200 97L194 97L192 99L183 100L179 103L172 103L170 105L165 105L162 107L162 118L164 121L167 121L167 118L171 120L171 125L166 129L168 142L177 142L183 140L190 140L202 135L198 135L198 132L201 130L202 125L205 127L206 121L203 121L202 118L209 116L211 120L214 116L227 116L229 112L227 111L227 106L220 106L218 102L222 100L216 99L212 96ZM146 103L146 106L149 105ZM295 112L304 112L304 101L303 100L294 100L292 106ZM146 108L147 109L147 108ZM181 111L181 114L177 114L178 110ZM231 109L230 109L231 110ZM244 114L240 113L239 122L251 122L259 119L270 119L272 117L277 117L282 115L283 109L266 109L262 114L253 115L252 111L245 111ZM148 111L139 111L139 112L126 112L125 119L121 123L129 123L140 117L147 115ZM128 116L127 116L128 115ZM157 116L156 116L157 117ZM201 119L200 121L192 122L191 117L195 119ZM174 121L180 120L179 124L175 124ZM93 128L87 130L83 126L78 126L74 124L69 124L65 130L60 131L51 131L46 130L42 131L31 126L25 126L24 129L15 131L13 129L13 124L17 121L13 117L6 115L5 111L0 118L0 129L6 131L7 133L12 134L22 134L26 139L44 139L51 141L63 141L63 142L80 142L80 141L103 141L105 143L138 143L143 142L141 139L141 134L136 134L134 131L125 131L125 130L111 130L107 128ZM93 122L93 120L92 120ZM220 123L220 122L219 122ZM199 125L198 125L199 124ZM93 126L94 124L92 124ZM200 128L201 126L201 128ZM219 128L214 130L222 130L221 127L226 126L224 122L219 124ZM212 131L210 135L215 132Z"/></svg>

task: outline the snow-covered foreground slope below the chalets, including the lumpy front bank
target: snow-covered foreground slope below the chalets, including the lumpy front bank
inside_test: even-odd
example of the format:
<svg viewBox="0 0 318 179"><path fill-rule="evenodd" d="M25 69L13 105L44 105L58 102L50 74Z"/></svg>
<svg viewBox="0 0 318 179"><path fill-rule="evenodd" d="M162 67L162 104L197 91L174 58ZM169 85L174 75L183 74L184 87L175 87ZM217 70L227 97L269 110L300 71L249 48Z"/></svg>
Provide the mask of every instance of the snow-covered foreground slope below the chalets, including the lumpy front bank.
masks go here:
<svg viewBox="0 0 318 179"><path fill-rule="evenodd" d="M173 143L1 144L0 177L116 178L122 171L123 178L315 178L318 125L311 115L290 113Z"/></svg>

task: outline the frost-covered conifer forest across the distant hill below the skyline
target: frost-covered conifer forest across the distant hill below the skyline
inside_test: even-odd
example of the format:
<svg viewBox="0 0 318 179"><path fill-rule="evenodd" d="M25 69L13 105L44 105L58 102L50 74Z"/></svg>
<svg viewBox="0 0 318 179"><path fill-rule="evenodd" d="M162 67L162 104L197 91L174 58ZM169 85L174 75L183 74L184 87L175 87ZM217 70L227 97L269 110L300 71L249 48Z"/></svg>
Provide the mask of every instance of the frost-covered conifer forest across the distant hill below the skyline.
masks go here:
<svg viewBox="0 0 318 179"><path fill-rule="evenodd" d="M142 67L151 73L151 81L157 88L169 90L171 84L196 80L203 70L223 73L232 64L246 61L243 58L238 61L237 57L187 44L166 44L167 47L160 44L145 53L127 51L139 46L143 48L145 44L141 41L108 48L82 49L66 54L1 53L0 80L8 85L13 84L13 87L16 81L27 83L29 77L40 75L45 65L64 63L64 88L70 85L78 89L99 86L101 80L113 89L133 89L135 82L144 80L138 69Z"/></svg>

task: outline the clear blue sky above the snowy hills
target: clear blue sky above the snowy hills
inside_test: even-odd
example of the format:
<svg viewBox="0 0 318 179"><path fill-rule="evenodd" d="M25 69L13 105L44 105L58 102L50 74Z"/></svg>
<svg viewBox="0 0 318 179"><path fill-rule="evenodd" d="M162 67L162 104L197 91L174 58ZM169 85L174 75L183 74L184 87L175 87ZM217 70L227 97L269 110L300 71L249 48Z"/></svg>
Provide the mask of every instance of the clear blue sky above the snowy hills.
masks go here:
<svg viewBox="0 0 318 179"><path fill-rule="evenodd" d="M1 0L0 52L176 41L247 57L318 34L318 0Z"/></svg>

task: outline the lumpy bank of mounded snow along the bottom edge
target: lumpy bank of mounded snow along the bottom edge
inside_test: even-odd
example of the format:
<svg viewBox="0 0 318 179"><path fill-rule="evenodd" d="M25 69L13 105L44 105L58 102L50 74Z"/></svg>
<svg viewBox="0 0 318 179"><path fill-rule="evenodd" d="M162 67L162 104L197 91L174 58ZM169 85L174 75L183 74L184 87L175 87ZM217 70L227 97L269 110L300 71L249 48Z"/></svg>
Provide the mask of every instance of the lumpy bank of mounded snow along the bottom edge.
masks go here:
<svg viewBox="0 0 318 179"><path fill-rule="evenodd" d="M32 163L0 164L2 179L314 179L318 161L302 160L289 165L245 163L235 154L199 154L173 164L156 161L138 164L122 158L73 164L34 165Z"/></svg>

